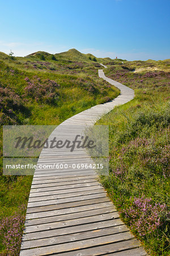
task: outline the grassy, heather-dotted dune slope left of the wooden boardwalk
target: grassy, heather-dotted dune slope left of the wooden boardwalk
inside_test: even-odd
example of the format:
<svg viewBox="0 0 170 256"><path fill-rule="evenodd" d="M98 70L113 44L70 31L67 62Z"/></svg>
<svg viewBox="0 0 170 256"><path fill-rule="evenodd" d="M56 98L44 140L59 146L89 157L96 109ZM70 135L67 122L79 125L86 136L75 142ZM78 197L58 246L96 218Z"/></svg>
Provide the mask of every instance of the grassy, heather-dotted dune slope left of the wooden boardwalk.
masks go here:
<svg viewBox="0 0 170 256"><path fill-rule="evenodd" d="M49 53L37 52L11 60L0 53L1 255L19 255L32 183L32 176L2 175L2 125L59 125L119 94L99 79L99 63L78 51L67 55L52 59Z"/></svg>

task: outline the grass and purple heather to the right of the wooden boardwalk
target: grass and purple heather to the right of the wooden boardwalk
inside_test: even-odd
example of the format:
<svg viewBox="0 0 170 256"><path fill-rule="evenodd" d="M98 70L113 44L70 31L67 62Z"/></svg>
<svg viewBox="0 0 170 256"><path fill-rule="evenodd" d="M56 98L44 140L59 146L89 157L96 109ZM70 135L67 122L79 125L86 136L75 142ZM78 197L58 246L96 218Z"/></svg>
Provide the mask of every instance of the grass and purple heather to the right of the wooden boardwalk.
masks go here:
<svg viewBox="0 0 170 256"><path fill-rule="evenodd" d="M133 88L135 98L97 122L109 125L109 176L100 178L147 252L168 255L170 73L168 61L152 63L131 61L105 69L108 77Z"/></svg>

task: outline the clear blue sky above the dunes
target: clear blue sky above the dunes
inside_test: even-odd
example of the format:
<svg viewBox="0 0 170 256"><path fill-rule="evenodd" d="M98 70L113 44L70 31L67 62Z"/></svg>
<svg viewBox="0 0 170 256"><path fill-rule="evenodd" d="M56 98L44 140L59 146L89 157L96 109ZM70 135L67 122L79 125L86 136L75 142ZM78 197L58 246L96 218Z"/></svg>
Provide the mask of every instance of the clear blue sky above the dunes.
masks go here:
<svg viewBox="0 0 170 256"><path fill-rule="evenodd" d="M0 0L0 51L170 58L170 0Z"/></svg>

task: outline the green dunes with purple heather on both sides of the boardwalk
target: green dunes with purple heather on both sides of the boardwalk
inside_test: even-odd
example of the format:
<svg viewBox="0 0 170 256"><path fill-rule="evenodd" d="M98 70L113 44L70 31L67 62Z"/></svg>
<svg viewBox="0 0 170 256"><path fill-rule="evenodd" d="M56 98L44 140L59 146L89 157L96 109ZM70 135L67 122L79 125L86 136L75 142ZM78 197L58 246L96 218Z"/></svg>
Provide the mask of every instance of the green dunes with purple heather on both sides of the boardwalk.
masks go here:
<svg viewBox="0 0 170 256"><path fill-rule="evenodd" d="M133 101L97 122L110 127L110 175L101 183L148 252L168 255L169 60L101 59L76 49L0 53L1 126L59 125L117 97L119 90L99 79L99 63L108 66L106 76L135 90ZM31 181L1 172L1 255L19 254Z"/></svg>

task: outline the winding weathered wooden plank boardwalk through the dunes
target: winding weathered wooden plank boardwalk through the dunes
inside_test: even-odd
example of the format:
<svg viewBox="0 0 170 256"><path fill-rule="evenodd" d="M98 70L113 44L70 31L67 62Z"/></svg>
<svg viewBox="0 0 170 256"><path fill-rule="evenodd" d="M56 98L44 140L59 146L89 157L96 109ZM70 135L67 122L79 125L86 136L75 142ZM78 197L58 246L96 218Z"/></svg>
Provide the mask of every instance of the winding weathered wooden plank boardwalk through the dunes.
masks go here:
<svg viewBox="0 0 170 256"><path fill-rule="evenodd" d="M134 91L105 77L120 96L96 105L61 123L50 135L73 140L82 127L94 125L114 106L125 104ZM71 129L71 127L74 129ZM86 151L43 149L39 164L93 163ZM120 220L111 200L90 168L36 169L29 195L20 256L33 255L146 255Z"/></svg>

